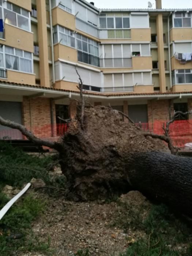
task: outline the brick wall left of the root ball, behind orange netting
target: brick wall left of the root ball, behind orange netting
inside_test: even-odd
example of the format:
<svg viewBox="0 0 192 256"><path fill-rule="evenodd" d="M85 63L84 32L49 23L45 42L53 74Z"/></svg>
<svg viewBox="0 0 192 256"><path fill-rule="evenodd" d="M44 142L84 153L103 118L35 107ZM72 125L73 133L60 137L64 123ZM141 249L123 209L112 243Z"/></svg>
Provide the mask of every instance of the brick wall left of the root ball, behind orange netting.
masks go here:
<svg viewBox="0 0 192 256"><path fill-rule="evenodd" d="M55 104L53 102L53 119L56 124ZM23 97L22 123L35 136L40 138L52 137L50 99ZM53 127L53 136L56 136L56 126Z"/></svg>

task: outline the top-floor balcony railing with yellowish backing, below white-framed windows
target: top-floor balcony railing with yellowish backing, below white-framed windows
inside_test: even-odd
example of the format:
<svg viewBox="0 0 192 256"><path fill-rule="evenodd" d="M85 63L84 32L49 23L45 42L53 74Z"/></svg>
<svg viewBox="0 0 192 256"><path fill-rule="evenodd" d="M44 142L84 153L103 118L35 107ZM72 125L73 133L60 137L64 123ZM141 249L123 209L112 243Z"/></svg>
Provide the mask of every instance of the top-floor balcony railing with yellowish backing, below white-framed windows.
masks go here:
<svg viewBox="0 0 192 256"><path fill-rule="evenodd" d="M100 39L130 39L131 29L108 29L99 30Z"/></svg>

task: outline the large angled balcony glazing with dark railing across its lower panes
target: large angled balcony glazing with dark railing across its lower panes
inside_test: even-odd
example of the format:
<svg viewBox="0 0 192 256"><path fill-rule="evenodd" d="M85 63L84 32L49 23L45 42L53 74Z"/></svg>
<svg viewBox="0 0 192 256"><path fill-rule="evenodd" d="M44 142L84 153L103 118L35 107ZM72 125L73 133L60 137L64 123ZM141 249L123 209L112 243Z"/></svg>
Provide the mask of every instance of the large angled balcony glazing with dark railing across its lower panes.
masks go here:
<svg viewBox="0 0 192 256"><path fill-rule="evenodd" d="M83 35L76 35L78 61L99 67L99 45Z"/></svg>

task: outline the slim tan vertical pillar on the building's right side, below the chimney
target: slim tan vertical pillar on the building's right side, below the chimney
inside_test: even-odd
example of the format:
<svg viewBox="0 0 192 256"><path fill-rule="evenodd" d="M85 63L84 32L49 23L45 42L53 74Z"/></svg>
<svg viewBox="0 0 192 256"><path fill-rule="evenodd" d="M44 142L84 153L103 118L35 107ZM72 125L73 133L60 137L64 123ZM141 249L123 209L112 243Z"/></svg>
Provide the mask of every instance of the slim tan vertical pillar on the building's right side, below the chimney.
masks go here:
<svg viewBox="0 0 192 256"><path fill-rule="evenodd" d="M163 15L158 14L157 19L157 46L158 46L158 66L159 66L159 86L160 92L166 92L165 79L165 56L164 56L164 42L163 42Z"/></svg>

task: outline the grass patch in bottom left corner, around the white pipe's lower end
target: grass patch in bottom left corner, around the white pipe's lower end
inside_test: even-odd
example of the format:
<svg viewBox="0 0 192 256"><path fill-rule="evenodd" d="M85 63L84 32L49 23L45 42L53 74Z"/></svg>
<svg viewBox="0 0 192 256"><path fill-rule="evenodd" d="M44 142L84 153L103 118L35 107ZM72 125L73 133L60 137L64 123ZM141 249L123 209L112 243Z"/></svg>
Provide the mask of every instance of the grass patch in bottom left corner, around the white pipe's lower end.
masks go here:
<svg viewBox="0 0 192 256"><path fill-rule="evenodd" d="M0 193L0 209L8 202L7 197ZM46 208L46 202L37 199L34 195L23 196L15 203L0 221L0 252L2 256L11 255L12 252L38 251L50 253L50 241L42 243L31 230L31 223L41 215ZM12 239L15 234L21 235L20 239Z"/></svg>

